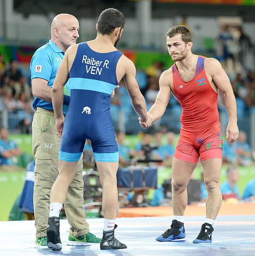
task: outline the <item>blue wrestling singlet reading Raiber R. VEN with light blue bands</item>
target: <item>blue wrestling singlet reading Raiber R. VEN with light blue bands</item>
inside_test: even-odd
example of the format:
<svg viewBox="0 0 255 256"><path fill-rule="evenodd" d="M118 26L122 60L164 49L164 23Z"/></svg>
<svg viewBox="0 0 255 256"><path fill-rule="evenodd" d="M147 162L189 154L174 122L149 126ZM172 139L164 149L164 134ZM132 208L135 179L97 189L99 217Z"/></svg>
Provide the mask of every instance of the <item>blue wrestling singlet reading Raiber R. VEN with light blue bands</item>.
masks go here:
<svg viewBox="0 0 255 256"><path fill-rule="evenodd" d="M99 53L90 49L87 42L79 44L69 72L71 98L64 122L60 160L78 161L89 139L96 161L119 161L110 100L118 85L116 65L121 56L118 50Z"/></svg>

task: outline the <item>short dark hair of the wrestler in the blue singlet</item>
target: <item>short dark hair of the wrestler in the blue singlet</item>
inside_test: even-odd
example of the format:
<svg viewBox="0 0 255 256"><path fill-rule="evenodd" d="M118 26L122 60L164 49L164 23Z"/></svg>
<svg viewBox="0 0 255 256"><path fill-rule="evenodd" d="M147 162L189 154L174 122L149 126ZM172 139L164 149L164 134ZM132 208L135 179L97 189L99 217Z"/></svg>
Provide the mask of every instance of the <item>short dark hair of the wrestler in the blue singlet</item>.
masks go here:
<svg viewBox="0 0 255 256"><path fill-rule="evenodd" d="M125 26L125 16L117 9L109 8L101 12L97 21L98 32L102 35L110 35L114 29Z"/></svg>

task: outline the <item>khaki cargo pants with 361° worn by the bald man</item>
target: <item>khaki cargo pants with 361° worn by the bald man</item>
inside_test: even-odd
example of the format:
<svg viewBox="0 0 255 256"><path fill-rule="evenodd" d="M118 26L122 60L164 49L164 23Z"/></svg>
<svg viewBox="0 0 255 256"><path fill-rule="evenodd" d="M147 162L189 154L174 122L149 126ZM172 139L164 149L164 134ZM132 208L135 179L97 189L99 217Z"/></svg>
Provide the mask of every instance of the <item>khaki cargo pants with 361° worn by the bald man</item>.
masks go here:
<svg viewBox="0 0 255 256"><path fill-rule="evenodd" d="M49 218L49 196L58 173L60 138L56 134L53 111L37 108L32 122L33 156L35 158L34 209L36 237L46 236ZM89 232L85 220L82 180L82 157L64 202L70 235Z"/></svg>

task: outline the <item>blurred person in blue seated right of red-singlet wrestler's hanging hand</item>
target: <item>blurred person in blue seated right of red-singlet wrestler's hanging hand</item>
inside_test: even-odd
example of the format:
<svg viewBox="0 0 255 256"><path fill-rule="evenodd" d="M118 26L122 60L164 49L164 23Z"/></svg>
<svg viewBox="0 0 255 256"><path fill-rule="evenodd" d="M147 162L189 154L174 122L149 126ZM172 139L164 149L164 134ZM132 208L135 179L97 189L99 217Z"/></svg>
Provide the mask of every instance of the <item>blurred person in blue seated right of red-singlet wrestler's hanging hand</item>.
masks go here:
<svg viewBox="0 0 255 256"><path fill-rule="evenodd" d="M252 163L252 151L249 144L246 142L247 136L244 131L239 132L239 138L235 143L238 164L249 166Z"/></svg>

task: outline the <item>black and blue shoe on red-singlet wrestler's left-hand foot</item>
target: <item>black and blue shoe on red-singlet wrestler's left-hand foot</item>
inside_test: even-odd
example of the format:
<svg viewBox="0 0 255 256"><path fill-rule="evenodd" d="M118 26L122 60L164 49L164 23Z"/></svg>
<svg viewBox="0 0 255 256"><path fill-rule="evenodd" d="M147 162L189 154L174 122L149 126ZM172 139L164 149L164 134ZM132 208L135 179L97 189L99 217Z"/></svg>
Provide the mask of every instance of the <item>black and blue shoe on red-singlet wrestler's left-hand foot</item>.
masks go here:
<svg viewBox="0 0 255 256"><path fill-rule="evenodd" d="M156 238L159 242L168 242L176 239L185 238L185 228L183 222L173 220L171 228L166 230L161 236Z"/></svg>

